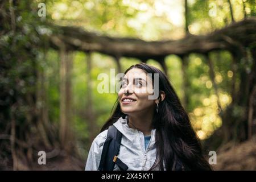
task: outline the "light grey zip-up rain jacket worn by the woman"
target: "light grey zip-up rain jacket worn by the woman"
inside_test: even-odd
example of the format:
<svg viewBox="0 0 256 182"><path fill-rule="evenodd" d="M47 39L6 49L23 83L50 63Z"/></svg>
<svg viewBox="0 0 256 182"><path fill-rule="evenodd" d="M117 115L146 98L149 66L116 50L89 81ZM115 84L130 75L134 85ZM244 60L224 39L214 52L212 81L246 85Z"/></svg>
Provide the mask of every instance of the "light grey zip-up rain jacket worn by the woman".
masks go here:
<svg viewBox="0 0 256 182"><path fill-rule="evenodd" d="M156 159L155 129L151 130L151 139L145 150L144 134L127 125L127 116L125 119L119 118L113 125L123 134L118 158L129 167L128 170L147 171L150 169ZM86 161L85 171L98 170L107 134L108 130L105 130L93 140ZM115 164L114 171L118 170L120 169Z"/></svg>

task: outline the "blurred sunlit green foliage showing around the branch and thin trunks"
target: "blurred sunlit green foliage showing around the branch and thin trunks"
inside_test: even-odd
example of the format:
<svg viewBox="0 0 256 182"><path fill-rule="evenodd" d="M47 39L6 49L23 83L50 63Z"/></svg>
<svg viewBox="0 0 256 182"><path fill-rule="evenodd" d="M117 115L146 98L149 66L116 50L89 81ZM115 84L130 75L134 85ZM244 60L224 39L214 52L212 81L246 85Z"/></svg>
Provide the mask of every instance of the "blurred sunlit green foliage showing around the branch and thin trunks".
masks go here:
<svg viewBox="0 0 256 182"><path fill-rule="evenodd" d="M85 30L105 35L129 36L145 40L179 39L185 34L183 1L49 0L44 1L47 7L46 18L39 18L37 15L39 2L14 1L15 30L11 26L9 3L7 1L0 3L3 5L0 6L3 10L0 13L0 133L8 130L10 134L8 123L14 114L17 130L20 131L17 132L20 135L17 138L23 140L26 140L24 131L34 132L36 135L35 123L38 114L36 109L39 107L36 103L36 92L40 84L38 72L44 74L43 86L46 89L45 103L48 108L49 122L52 126L58 126L60 121L60 57L57 51L49 48L47 36L55 30L49 29L46 23L80 26ZM228 25L231 18L227 2L221 0L189 1L189 32L195 35L207 34ZM234 18L237 21L242 20L244 18L242 0L231 2ZM255 1L245 1L245 11L247 16L255 16ZM117 74L117 64L114 58L93 52L90 75L87 59L88 53L73 52L73 118L71 122L81 152L85 152L83 148L88 149L90 146L88 142L90 126L88 126L86 110L92 107L95 115L94 123L97 131L100 131L101 126L110 117L117 99L117 93L100 94L97 91L100 73L107 73L110 76L110 69L115 68ZM225 109L232 102L230 99L233 79L232 56L229 52L218 51L211 52L210 59L213 62L216 76L214 79L220 94L220 102ZM182 64L179 57L170 55L165 61L168 76L181 101L184 100L184 96L188 97L188 105L185 109L191 117L193 126L199 131L201 139L209 137L221 126L222 121L218 117L217 96L209 78L207 60L202 55L189 55L185 78L182 76ZM242 61L238 68L246 65L246 70L250 72L253 64L251 57ZM121 71L124 72L131 65L139 62L140 60L137 59L121 57ZM148 60L147 63L162 69L155 60ZM90 80L89 77L91 77ZM187 90L183 88L185 79L189 84ZM235 79L236 82L240 82L238 77ZM92 83L92 90L89 90L88 82ZM88 102L89 92L92 93L92 105ZM241 107L234 107L234 116L238 117L244 113ZM10 154L10 151L8 152Z"/></svg>

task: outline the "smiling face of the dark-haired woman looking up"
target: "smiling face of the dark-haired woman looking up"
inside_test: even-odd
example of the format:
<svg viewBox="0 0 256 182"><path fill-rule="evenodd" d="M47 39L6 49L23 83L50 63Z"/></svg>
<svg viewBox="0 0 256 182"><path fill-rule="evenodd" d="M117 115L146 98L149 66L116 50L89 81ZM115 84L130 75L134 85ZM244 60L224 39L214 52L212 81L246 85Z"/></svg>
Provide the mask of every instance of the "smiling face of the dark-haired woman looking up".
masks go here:
<svg viewBox="0 0 256 182"><path fill-rule="evenodd" d="M155 100L148 100L153 91L150 76L142 69L130 69L123 77L122 87L118 92L122 112L130 115L153 111Z"/></svg>

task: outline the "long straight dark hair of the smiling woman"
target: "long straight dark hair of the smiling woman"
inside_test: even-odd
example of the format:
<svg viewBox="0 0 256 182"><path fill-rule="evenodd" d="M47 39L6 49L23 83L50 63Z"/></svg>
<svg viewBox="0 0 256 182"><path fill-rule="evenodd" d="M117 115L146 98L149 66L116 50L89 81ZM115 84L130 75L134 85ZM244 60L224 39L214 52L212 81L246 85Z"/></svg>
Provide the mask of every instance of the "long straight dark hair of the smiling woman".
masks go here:
<svg viewBox="0 0 256 182"><path fill-rule="evenodd" d="M188 114L166 75L160 69L144 63L132 65L125 74L133 68L152 73L152 82L154 82L154 73L158 73L159 97L161 97L161 92L166 94L163 101L159 99L159 111L158 113L155 111L152 121L156 129L156 160L151 169L176 170L181 166L187 170L211 170L207 160L204 159L200 140L192 129ZM114 106L116 106L115 110L102 127L101 132L108 129L120 117L126 116L122 113L118 99Z"/></svg>

